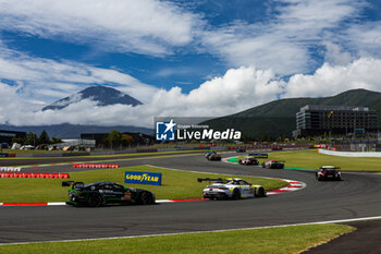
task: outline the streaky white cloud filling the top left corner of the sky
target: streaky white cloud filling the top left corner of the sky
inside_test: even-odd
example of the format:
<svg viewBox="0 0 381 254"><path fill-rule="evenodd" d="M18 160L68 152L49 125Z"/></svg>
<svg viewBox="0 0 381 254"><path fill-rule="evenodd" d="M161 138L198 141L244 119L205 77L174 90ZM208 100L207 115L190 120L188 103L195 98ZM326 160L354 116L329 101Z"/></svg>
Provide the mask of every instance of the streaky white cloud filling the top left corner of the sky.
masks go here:
<svg viewBox="0 0 381 254"><path fill-rule="evenodd" d="M170 53L170 46L192 41L197 23L197 15L168 1L0 0L1 29L86 41L110 51Z"/></svg>

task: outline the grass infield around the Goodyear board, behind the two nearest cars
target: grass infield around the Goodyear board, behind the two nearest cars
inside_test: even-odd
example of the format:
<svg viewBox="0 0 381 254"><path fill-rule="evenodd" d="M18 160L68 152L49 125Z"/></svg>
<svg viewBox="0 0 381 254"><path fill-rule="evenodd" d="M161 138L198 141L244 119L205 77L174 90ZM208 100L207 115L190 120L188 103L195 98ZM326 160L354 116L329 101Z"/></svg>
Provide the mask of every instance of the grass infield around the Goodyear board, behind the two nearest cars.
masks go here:
<svg viewBox="0 0 381 254"><path fill-rule="evenodd" d="M181 170L169 170L149 166L136 166L119 169L91 170L70 173L71 181L90 183L112 181L124 183L124 172L148 171L161 172L162 185L127 184L153 192L158 199L201 197L202 188L207 183L197 182L197 178L226 178L231 176L195 173ZM263 178L244 177L248 182L261 184L266 190L274 190L287 185L286 182ZM0 202L62 202L67 199L69 188L62 188L62 179L0 178Z"/></svg>

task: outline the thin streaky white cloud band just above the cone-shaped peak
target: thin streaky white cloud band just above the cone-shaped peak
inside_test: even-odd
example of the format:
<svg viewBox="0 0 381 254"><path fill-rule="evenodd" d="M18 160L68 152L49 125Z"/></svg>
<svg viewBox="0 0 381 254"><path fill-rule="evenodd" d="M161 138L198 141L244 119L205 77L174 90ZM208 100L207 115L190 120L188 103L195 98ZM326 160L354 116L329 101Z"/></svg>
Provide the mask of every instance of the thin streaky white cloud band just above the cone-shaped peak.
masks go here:
<svg viewBox="0 0 381 254"><path fill-rule="evenodd" d="M158 88L144 84L133 76L74 61L56 61L33 58L1 47L0 77L19 83L19 94L37 110L41 101L50 104L94 84L112 85L142 100L149 101ZM38 101L38 102L37 102Z"/></svg>

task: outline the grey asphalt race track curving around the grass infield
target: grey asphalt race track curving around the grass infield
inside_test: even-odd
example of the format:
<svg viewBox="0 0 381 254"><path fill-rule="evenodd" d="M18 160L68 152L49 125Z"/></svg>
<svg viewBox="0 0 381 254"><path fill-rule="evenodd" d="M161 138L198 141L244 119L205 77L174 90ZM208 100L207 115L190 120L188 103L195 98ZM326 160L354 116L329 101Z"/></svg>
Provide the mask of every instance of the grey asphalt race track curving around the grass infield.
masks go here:
<svg viewBox="0 0 381 254"><path fill-rule="evenodd" d="M223 157L233 155L237 154L226 154ZM207 161L204 155L140 158L118 164L284 178L305 182L307 188L266 198L243 201L179 202L100 208L5 206L0 207L0 243L237 229L381 215L381 174L344 172L344 181L318 182L312 172ZM41 169L33 167L27 170L78 171L71 165Z"/></svg>

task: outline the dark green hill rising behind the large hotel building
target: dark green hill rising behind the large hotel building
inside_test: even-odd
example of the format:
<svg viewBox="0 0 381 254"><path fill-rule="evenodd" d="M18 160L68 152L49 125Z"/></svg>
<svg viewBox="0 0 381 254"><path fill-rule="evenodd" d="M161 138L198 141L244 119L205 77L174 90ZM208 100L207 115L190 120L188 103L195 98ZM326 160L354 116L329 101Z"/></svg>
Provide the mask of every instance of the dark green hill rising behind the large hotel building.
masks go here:
<svg viewBox="0 0 381 254"><path fill-rule="evenodd" d="M364 106L378 112L381 126L381 93L366 89L353 89L324 98L291 98L274 100L231 116L204 122L216 130L234 126L244 135L291 136L296 129L296 112L306 105Z"/></svg>

